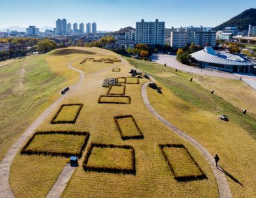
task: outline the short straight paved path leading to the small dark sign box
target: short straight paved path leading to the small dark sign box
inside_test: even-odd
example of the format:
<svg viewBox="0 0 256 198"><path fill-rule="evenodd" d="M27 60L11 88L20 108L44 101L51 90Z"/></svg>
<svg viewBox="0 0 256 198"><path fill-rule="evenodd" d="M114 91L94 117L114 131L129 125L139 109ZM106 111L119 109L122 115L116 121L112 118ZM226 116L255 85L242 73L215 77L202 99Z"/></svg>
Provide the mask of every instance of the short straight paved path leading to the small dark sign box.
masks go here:
<svg viewBox="0 0 256 198"><path fill-rule="evenodd" d="M63 171L52 186L46 198L60 197L75 169L76 167L72 167L70 164L65 165Z"/></svg>

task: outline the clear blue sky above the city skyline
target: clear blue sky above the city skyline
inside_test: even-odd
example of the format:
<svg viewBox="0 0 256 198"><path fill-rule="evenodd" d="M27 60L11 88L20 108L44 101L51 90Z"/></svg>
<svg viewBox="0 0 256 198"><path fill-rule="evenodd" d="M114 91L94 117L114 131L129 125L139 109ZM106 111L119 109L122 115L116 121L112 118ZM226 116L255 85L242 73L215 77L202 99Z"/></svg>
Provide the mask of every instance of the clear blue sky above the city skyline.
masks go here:
<svg viewBox="0 0 256 198"><path fill-rule="evenodd" d="M55 20L97 22L98 30L118 30L135 22L164 20L166 27L217 26L255 0L0 0L0 28L55 26Z"/></svg>

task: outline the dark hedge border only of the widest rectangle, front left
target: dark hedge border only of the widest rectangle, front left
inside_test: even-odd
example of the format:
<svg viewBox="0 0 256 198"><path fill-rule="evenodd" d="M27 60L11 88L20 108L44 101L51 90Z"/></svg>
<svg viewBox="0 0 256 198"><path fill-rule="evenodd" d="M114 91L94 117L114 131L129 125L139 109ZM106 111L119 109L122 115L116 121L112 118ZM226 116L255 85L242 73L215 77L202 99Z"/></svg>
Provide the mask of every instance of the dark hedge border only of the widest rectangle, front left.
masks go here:
<svg viewBox="0 0 256 198"><path fill-rule="evenodd" d="M54 135L54 134L63 134L63 135L84 135L84 143L81 146L80 153L68 153L68 152L54 152L54 151L37 151L33 149L28 149L29 144L33 141L33 139L36 137L36 135ZM51 156L77 156L78 158L81 158L83 154L84 148L86 148L87 142L89 140L90 133L89 132L76 132L76 131L49 131L49 132L36 132L34 133L26 142L25 146L20 151L20 154L22 155L51 155Z"/></svg>

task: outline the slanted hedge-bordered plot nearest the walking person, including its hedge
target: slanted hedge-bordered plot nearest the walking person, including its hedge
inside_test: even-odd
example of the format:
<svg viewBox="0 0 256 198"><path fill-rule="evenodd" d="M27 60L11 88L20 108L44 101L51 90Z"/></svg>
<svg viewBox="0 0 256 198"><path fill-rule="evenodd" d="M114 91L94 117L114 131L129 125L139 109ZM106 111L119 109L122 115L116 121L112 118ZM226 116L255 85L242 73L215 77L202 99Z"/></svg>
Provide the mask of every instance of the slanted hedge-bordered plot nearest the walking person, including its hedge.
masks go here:
<svg viewBox="0 0 256 198"><path fill-rule="evenodd" d="M191 181L207 178L204 171L202 171L184 145L161 144L159 147L177 181Z"/></svg>

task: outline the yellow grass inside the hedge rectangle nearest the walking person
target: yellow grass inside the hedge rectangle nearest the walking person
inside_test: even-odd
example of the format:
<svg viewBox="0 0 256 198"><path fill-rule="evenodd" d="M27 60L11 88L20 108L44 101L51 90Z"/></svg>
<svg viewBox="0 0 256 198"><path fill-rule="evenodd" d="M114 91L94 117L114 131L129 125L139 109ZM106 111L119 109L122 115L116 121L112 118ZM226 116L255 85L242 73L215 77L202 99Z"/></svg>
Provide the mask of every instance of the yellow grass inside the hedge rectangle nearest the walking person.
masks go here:
<svg viewBox="0 0 256 198"><path fill-rule="evenodd" d="M170 162L175 177L186 178L191 176L201 176L202 172L193 162L191 156L185 148L180 147L163 147L163 152Z"/></svg>

